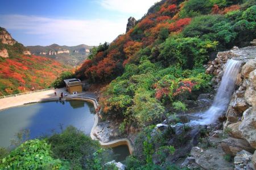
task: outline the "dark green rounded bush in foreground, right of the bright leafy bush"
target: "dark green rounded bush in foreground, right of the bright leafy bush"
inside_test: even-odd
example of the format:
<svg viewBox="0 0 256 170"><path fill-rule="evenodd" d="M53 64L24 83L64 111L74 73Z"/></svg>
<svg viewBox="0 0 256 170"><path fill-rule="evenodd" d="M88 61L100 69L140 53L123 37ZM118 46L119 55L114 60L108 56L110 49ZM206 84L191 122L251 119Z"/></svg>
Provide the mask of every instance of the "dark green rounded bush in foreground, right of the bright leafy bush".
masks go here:
<svg viewBox="0 0 256 170"><path fill-rule="evenodd" d="M52 146L53 156L68 160L73 169L82 169L90 166L89 160L91 160L90 163L93 162L93 153L101 152L101 154L105 154L105 150L98 151L100 150L98 141L93 141L73 126L69 126L61 134L52 135L52 137L49 137L48 142ZM102 157L98 159L102 159ZM106 163L105 159L102 160L100 166L104 162Z"/></svg>

